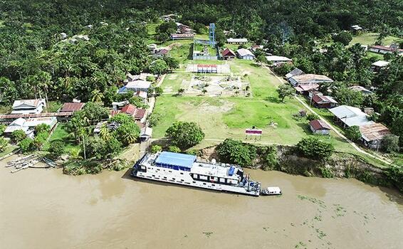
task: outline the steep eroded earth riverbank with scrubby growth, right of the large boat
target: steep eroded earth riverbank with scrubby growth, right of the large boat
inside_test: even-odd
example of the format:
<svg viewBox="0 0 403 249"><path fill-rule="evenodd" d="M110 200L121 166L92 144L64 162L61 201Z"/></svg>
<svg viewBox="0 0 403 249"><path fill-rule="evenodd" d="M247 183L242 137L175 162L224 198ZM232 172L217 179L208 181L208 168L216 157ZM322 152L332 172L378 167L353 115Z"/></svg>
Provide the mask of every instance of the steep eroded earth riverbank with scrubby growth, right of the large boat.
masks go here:
<svg viewBox="0 0 403 249"><path fill-rule="evenodd" d="M258 152L263 151L266 153L267 151L266 149L261 149L263 146L251 146L256 147ZM273 148L275 151L273 155L274 161L276 161L275 164L268 165L267 154L258 153L252 165L248 167L251 169L278 170L287 174L301 176L354 178L367 184L397 188L403 192L402 183L391 177L388 170L373 166L355 154L336 152L329 159L314 160L301 157L295 152L295 147L293 146L276 145ZM199 154L201 159L209 161L219 158L216 146L201 149Z"/></svg>

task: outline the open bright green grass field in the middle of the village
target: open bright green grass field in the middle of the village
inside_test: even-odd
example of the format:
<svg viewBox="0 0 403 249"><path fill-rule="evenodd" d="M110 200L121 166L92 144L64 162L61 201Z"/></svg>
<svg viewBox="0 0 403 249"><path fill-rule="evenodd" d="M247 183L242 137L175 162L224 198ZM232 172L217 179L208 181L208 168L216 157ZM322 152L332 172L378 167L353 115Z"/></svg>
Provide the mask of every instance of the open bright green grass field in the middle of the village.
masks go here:
<svg viewBox="0 0 403 249"><path fill-rule="evenodd" d="M155 106L155 112L162 118L153 127L153 137L164 137L167 128L177 120L197 122L201 126L206 137L199 147L217 144L228 137L253 142L245 139L244 134L246 128L253 126L263 129L259 140L263 144L296 144L301 138L312 135L308 121L295 117L303 107L294 99L287 99L284 103L278 100L276 88L280 82L274 75L251 61L233 60L230 63L235 75L243 76L251 83L252 97L177 97L165 94L157 99ZM182 80L189 80L191 75L169 74L162 88L177 89ZM352 151L350 144L334 134L322 138L338 151Z"/></svg>

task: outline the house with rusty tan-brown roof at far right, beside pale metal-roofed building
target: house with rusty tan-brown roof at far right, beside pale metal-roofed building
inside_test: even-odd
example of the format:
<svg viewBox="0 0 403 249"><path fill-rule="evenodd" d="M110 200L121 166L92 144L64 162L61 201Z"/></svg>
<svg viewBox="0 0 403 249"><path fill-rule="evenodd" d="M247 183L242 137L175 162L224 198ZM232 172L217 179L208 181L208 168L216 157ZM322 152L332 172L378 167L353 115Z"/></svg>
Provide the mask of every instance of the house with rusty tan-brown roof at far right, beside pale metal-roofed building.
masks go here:
<svg viewBox="0 0 403 249"><path fill-rule="evenodd" d="M362 143L371 149L382 147L383 137L390 134L389 129L380 123L364 125L360 127L360 132Z"/></svg>

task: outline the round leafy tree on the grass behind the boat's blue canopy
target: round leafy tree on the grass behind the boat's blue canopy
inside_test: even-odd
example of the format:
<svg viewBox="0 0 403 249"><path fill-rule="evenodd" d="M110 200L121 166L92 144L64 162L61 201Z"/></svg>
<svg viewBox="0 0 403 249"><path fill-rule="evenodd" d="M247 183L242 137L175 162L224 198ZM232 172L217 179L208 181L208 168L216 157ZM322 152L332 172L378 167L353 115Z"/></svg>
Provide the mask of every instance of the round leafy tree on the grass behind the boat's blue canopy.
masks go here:
<svg viewBox="0 0 403 249"><path fill-rule="evenodd" d="M199 144L204 139L204 132L195 122L174 122L165 132L165 136L172 139L174 145L187 149Z"/></svg>

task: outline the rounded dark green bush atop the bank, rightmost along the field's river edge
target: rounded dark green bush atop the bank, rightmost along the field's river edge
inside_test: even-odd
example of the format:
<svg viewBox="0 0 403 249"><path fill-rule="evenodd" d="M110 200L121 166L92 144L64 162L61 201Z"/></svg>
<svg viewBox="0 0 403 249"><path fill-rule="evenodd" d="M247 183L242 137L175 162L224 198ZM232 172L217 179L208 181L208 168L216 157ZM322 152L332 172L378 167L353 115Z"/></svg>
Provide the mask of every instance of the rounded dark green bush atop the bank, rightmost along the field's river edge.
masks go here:
<svg viewBox="0 0 403 249"><path fill-rule="evenodd" d="M310 159L327 159L335 148L328 142L323 142L317 137L305 137L298 142L296 149L304 157Z"/></svg>

